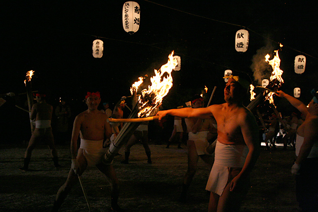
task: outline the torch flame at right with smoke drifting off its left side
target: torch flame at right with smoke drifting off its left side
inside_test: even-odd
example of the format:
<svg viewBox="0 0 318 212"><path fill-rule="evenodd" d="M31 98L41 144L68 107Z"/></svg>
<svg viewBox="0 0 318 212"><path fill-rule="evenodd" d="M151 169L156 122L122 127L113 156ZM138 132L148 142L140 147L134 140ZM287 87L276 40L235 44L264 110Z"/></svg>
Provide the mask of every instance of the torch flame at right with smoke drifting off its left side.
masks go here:
<svg viewBox="0 0 318 212"><path fill-rule="evenodd" d="M279 66L280 66L280 59L278 56L278 50L275 50L274 52L276 52L276 55L274 56L274 58L272 60L268 60L269 59L269 55L267 54L265 56L265 61L268 62L269 65L271 65L271 67L273 68L273 72L272 75L270 76L270 80L274 80L277 79L280 84L284 83L284 80L282 78L282 74L283 71L280 70ZM266 100L269 100L270 104L274 104L274 99L273 99L273 92L269 92L269 94L266 96Z"/></svg>

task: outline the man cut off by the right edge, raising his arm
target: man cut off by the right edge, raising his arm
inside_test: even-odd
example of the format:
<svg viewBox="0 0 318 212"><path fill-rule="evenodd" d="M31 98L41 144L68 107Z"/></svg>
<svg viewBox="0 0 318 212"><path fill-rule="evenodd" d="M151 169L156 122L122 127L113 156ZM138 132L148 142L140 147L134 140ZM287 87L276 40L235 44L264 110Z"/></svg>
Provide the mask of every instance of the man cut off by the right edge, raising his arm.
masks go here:
<svg viewBox="0 0 318 212"><path fill-rule="evenodd" d="M297 129L296 156L292 174L296 175L296 197L303 212L318 211L318 90L309 105L298 99L277 91L277 96L286 98L295 108L306 116Z"/></svg>

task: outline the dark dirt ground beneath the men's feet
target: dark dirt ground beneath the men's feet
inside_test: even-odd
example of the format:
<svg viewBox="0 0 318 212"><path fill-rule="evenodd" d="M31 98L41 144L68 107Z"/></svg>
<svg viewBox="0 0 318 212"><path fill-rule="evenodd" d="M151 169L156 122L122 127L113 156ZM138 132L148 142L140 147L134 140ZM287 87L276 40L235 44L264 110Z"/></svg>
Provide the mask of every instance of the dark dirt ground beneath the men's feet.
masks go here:
<svg viewBox="0 0 318 212"><path fill-rule="evenodd" d="M189 188L188 202L179 203L183 175L187 169L187 149L177 144L151 143L153 164L147 164L142 144L131 149L130 164L122 164L124 148L116 156L114 167L120 181L119 205L127 212L206 212L209 196L205 185L207 166L199 160L198 170ZM56 170L45 145L33 150L29 168L22 172L25 145L0 146L0 211L49 212L59 187L71 167L69 146L58 145L61 169ZM294 151L267 151L262 148L251 174L251 188L241 207L242 212L298 211L295 179L290 173ZM82 180L93 212L109 212L110 186L95 168L90 167ZM88 211L79 183L62 205L61 212Z"/></svg>

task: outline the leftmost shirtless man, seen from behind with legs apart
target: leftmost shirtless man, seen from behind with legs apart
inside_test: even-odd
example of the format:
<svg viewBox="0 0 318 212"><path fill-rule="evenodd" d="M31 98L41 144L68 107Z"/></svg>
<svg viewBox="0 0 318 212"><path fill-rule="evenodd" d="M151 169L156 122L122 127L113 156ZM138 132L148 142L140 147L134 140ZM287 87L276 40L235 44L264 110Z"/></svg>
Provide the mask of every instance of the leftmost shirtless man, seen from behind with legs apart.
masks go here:
<svg viewBox="0 0 318 212"><path fill-rule="evenodd" d="M24 154L24 165L20 168L23 171L28 170L32 150L34 149L35 144L41 140L45 140L48 144L53 157L54 166L56 168L60 167L58 162L58 152L54 145L51 127L53 107L46 103L45 94L37 93L35 96L37 103L34 104L31 109L31 120L35 120L35 129Z"/></svg>

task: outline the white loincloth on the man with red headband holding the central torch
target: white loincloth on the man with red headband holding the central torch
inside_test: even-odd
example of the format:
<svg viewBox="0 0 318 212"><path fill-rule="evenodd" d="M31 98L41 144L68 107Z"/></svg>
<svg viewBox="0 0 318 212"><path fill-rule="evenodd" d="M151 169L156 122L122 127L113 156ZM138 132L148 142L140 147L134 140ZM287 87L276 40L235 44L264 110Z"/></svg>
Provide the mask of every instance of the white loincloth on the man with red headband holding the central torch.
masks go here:
<svg viewBox="0 0 318 212"><path fill-rule="evenodd" d="M87 166L93 166L100 163L102 156L107 152L107 149L103 148L103 140L91 141L80 139L79 148L83 149Z"/></svg>

